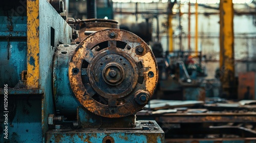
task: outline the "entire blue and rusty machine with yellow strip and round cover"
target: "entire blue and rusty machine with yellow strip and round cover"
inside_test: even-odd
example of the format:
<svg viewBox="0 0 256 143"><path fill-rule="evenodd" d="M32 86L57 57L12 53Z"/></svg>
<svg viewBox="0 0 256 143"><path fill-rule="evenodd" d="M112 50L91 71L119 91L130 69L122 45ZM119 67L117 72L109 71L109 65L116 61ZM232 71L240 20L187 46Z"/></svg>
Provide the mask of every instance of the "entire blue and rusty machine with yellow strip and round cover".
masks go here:
<svg viewBox="0 0 256 143"><path fill-rule="evenodd" d="M140 37L114 20L66 22L62 1L14 2L0 10L0 142L164 141L155 121L136 121L158 80Z"/></svg>

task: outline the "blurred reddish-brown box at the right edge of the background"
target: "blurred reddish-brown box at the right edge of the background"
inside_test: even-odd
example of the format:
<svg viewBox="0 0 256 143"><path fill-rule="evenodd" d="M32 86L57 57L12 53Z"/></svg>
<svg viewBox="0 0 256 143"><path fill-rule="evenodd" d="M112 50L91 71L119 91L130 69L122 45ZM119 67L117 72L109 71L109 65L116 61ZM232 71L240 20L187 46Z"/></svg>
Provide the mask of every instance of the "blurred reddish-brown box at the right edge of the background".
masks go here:
<svg viewBox="0 0 256 143"><path fill-rule="evenodd" d="M256 73L249 71L247 73L238 74L238 99L239 100L254 100L255 99L255 82Z"/></svg>

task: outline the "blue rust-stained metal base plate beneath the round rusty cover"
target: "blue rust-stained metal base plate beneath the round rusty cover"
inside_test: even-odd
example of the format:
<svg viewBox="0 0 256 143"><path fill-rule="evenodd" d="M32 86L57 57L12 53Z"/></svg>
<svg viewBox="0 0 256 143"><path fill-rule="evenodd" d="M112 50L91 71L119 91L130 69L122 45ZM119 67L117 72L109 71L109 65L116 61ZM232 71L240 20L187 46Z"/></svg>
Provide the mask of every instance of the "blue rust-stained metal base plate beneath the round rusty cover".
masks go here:
<svg viewBox="0 0 256 143"><path fill-rule="evenodd" d="M46 142L164 142L164 132L156 121L136 121L135 128L53 129Z"/></svg>

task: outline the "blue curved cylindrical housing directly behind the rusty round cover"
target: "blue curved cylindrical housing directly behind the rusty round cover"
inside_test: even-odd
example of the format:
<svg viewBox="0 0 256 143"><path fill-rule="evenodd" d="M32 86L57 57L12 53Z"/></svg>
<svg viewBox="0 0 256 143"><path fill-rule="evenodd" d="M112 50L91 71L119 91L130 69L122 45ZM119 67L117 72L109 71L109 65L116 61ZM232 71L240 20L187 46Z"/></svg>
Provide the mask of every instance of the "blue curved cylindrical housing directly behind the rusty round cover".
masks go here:
<svg viewBox="0 0 256 143"><path fill-rule="evenodd" d="M76 117L77 106L82 106L76 99L69 82L69 62L77 45L60 44L54 54L53 85L57 115ZM68 85L68 86L67 86Z"/></svg>

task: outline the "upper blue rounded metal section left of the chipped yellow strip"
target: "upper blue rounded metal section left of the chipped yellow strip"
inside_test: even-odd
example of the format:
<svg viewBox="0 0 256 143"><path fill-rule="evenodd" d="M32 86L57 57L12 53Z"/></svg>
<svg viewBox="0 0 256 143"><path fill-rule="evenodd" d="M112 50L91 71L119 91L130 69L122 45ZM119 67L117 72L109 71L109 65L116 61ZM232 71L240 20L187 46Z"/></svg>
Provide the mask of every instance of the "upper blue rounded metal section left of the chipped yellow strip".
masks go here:
<svg viewBox="0 0 256 143"><path fill-rule="evenodd" d="M0 16L0 21L0 88L14 87L27 69L27 18Z"/></svg>

